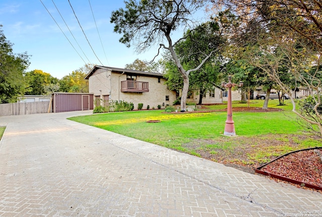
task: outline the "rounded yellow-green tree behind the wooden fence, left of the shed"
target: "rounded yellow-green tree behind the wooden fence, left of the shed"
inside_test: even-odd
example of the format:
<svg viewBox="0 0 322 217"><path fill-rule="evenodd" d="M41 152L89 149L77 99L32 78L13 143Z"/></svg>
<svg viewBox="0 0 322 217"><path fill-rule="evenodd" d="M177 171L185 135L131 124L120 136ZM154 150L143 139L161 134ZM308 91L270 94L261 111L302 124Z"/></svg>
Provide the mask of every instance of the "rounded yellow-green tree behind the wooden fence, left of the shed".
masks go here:
<svg viewBox="0 0 322 217"><path fill-rule="evenodd" d="M47 72L35 69L25 73L25 78L29 83L30 89L26 91L26 95L45 95L48 94L48 90L45 86L50 84L57 84L58 79L51 76Z"/></svg>

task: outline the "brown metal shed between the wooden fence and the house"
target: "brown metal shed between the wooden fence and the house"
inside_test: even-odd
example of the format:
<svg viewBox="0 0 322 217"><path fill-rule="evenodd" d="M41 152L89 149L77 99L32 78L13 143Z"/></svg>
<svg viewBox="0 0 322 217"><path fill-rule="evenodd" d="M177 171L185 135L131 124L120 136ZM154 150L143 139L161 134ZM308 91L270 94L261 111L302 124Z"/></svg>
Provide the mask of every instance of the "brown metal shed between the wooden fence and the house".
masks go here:
<svg viewBox="0 0 322 217"><path fill-rule="evenodd" d="M63 93L51 94L52 112L72 112L94 109L93 93Z"/></svg>

